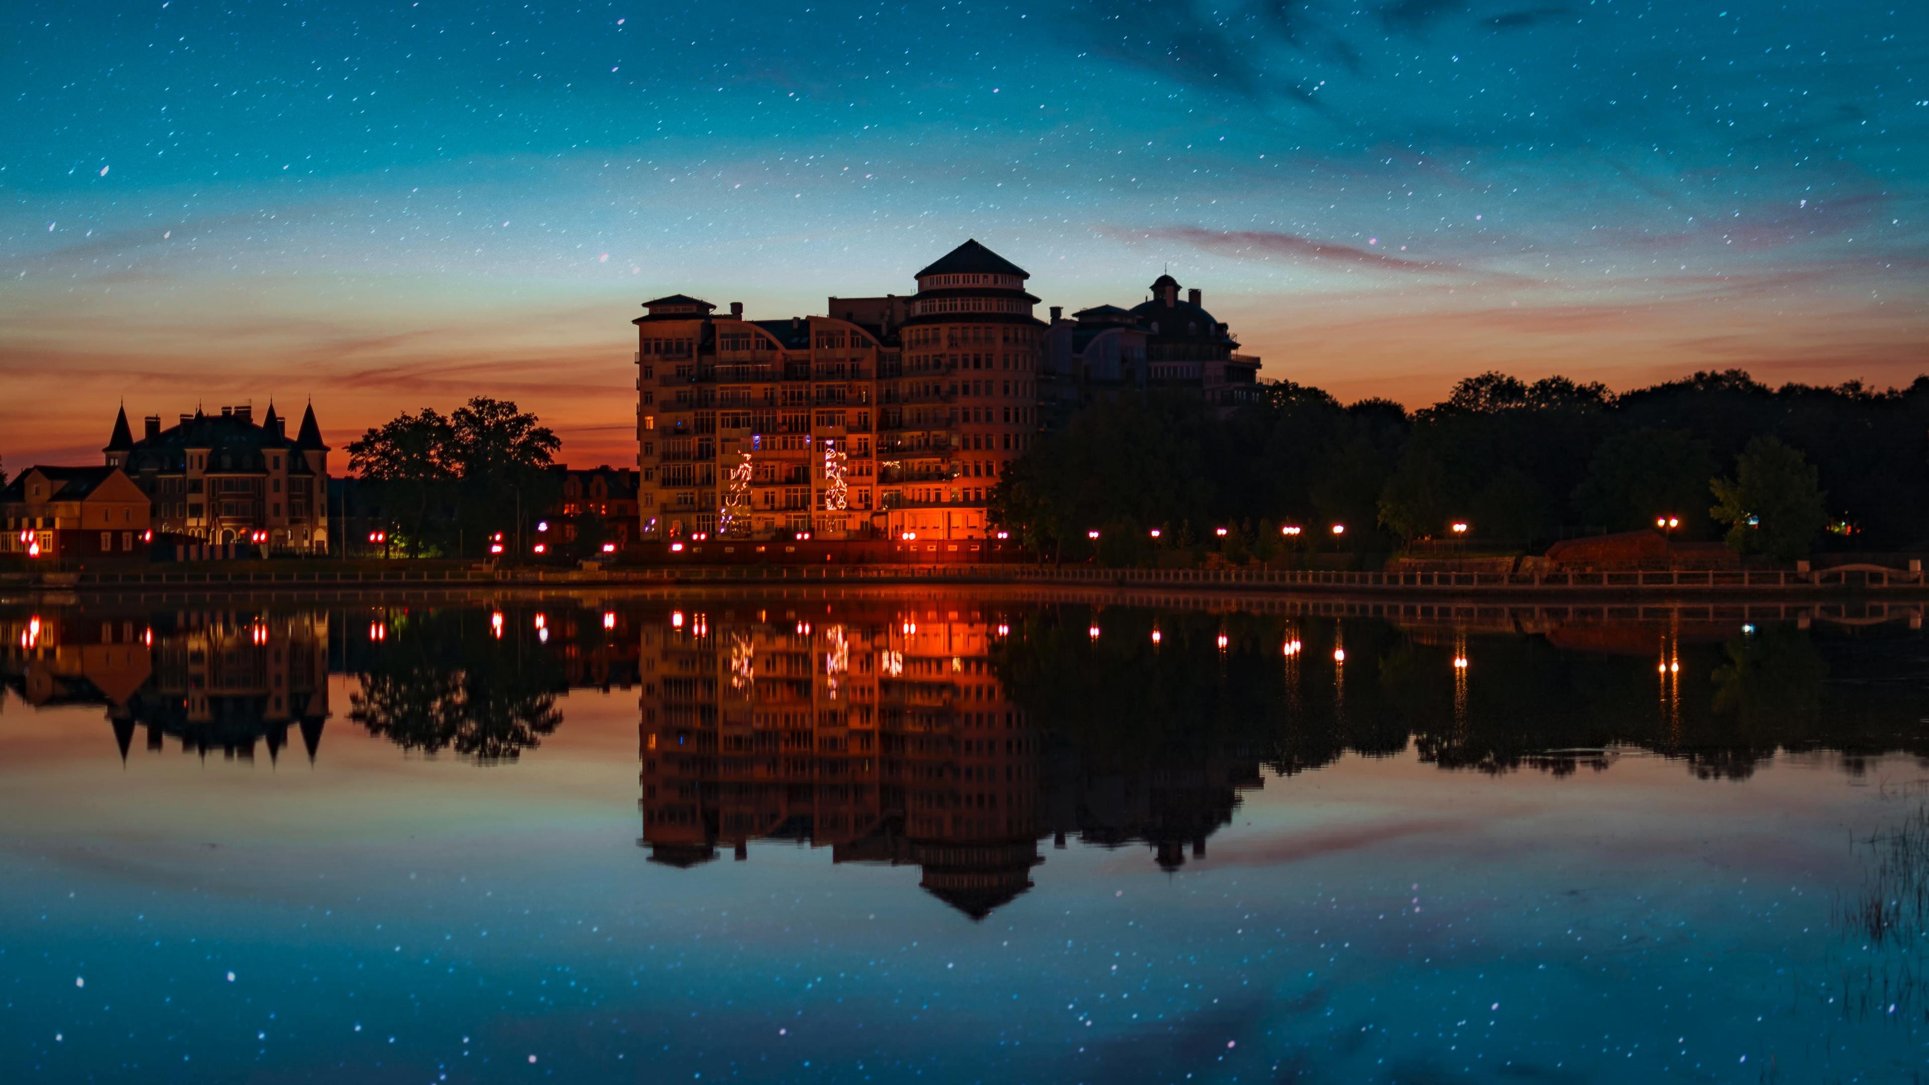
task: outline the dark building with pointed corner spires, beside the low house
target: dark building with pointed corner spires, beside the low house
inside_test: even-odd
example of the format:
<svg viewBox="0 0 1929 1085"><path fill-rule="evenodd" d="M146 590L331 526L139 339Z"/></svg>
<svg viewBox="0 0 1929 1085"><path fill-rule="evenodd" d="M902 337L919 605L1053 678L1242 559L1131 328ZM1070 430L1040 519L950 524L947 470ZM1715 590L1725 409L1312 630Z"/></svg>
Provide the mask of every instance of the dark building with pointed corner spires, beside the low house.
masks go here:
<svg viewBox="0 0 1929 1085"><path fill-rule="evenodd" d="M168 429L149 415L139 440L123 407L102 450L149 496L156 533L295 552L328 550L328 452L312 405L289 438L274 403L260 423L247 405Z"/></svg>

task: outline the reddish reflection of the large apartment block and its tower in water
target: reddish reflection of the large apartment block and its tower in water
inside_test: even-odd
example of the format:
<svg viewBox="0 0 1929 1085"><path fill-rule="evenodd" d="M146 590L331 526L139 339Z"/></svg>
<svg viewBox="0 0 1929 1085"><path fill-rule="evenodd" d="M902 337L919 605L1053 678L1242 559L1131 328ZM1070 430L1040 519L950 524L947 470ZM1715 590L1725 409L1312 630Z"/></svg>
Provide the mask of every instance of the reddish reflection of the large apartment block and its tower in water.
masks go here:
<svg viewBox="0 0 1929 1085"><path fill-rule="evenodd" d="M644 629L642 842L693 865L752 838L916 863L982 919L1038 863L1038 736L972 610L677 612Z"/></svg>

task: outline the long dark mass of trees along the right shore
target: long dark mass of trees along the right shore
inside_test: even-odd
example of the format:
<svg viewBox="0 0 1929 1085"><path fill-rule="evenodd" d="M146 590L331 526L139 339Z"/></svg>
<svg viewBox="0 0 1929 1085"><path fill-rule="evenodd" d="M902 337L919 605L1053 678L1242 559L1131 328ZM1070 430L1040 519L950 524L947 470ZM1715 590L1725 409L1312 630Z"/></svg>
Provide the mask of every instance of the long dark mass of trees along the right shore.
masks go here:
<svg viewBox="0 0 1929 1085"><path fill-rule="evenodd" d="M1485 373L1412 413L1279 382L1231 417L1181 394L1092 403L1011 463L992 515L1038 554L1111 564L1208 544L1391 552L1453 523L1518 550L1657 519L1792 560L1921 546L1925 467L1929 376L1879 392L1723 371L1615 394Z"/></svg>

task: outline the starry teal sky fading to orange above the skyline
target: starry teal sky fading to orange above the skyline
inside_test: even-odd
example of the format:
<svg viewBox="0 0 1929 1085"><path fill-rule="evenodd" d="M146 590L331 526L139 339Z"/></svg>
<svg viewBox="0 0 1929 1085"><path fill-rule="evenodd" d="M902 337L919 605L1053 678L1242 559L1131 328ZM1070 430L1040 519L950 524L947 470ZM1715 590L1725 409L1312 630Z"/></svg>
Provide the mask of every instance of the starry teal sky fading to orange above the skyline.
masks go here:
<svg viewBox="0 0 1929 1085"><path fill-rule="evenodd" d="M631 463L635 330L909 293L1206 292L1262 376L1426 405L1929 369L1902 0L19 0L0 456L312 398L338 448L513 398ZM340 459L338 459L340 463Z"/></svg>

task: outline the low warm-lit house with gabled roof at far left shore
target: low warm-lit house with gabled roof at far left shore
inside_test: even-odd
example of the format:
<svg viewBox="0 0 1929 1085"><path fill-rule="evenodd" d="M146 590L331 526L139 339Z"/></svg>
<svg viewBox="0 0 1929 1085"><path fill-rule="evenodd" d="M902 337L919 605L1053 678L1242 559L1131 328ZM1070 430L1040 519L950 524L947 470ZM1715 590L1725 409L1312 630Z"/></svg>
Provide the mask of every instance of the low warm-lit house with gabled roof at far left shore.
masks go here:
<svg viewBox="0 0 1929 1085"><path fill-rule="evenodd" d="M149 500L120 467L27 467L0 490L0 554L147 560Z"/></svg>

